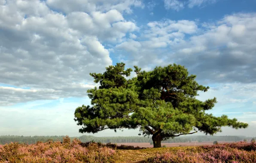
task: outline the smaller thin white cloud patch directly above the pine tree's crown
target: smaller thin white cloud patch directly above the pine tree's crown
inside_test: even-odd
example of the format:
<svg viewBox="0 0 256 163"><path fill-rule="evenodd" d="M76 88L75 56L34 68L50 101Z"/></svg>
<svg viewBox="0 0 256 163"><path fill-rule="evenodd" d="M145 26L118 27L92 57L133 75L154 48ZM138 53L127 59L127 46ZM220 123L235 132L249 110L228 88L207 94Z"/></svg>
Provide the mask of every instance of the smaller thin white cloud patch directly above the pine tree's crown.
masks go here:
<svg viewBox="0 0 256 163"><path fill-rule="evenodd" d="M186 34L196 33L198 26L194 21L188 20L163 20L149 22L140 29L140 41L128 40L116 45L116 51L122 53L128 51L131 60L125 60L128 65L136 63L142 66L162 65L171 54L163 55L171 46L184 42Z"/></svg>

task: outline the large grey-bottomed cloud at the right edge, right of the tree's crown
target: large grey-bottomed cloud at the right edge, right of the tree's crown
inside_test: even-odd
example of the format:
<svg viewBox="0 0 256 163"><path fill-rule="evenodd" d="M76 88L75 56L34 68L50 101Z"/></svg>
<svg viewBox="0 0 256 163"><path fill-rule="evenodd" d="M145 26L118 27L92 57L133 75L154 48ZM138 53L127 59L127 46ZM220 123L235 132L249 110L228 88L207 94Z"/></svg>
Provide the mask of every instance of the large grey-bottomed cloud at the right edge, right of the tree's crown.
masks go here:
<svg viewBox="0 0 256 163"><path fill-rule="evenodd" d="M225 16L214 28L180 45L179 63L200 79L210 73L212 82L256 82L255 23L255 13ZM184 50L190 55L182 55Z"/></svg>

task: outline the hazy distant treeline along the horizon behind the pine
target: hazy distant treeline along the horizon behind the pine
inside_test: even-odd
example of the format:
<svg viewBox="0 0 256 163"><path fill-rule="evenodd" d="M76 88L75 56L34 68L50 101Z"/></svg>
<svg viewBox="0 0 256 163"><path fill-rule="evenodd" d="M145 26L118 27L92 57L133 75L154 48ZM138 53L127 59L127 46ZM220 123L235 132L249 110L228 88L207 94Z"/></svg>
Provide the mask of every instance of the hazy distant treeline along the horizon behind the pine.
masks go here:
<svg viewBox="0 0 256 163"><path fill-rule="evenodd" d="M65 136L0 136L0 144L6 144L10 142L19 142L19 143L28 143L34 144L37 141L47 142L52 141L62 141L62 138ZM127 142L152 142L151 137L143 136L127 136L127 137L95 137L95 136L79 136L79 137L70 137L71 141L73 139L80 139L81 142L102 142L102 143L127 143ZM174 139L170 138L163 142L207 142L207 141L242 141L244 139L251 140L252 137L245 136L180 136L175 137Z"/></svg>

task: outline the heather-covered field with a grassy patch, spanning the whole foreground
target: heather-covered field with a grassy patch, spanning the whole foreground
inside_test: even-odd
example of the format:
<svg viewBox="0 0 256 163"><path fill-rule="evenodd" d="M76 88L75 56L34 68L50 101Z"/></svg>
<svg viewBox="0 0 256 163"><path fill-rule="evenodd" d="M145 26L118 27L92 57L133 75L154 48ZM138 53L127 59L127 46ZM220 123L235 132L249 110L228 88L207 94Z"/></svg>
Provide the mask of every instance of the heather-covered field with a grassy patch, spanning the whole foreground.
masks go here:
<svg viewBox="0 0 256 163"><path fill-rule="evenodd" d="M0 163L256 163L255 142L206 143L210 142L190 147L139 148L110 143L82 143L78 139L71 142L66 137L62 143L49 141L28 145L15 142L0 145ZM138 145L129 145L135 144ZM140 146L148 144L140 143Z"/></svg>

